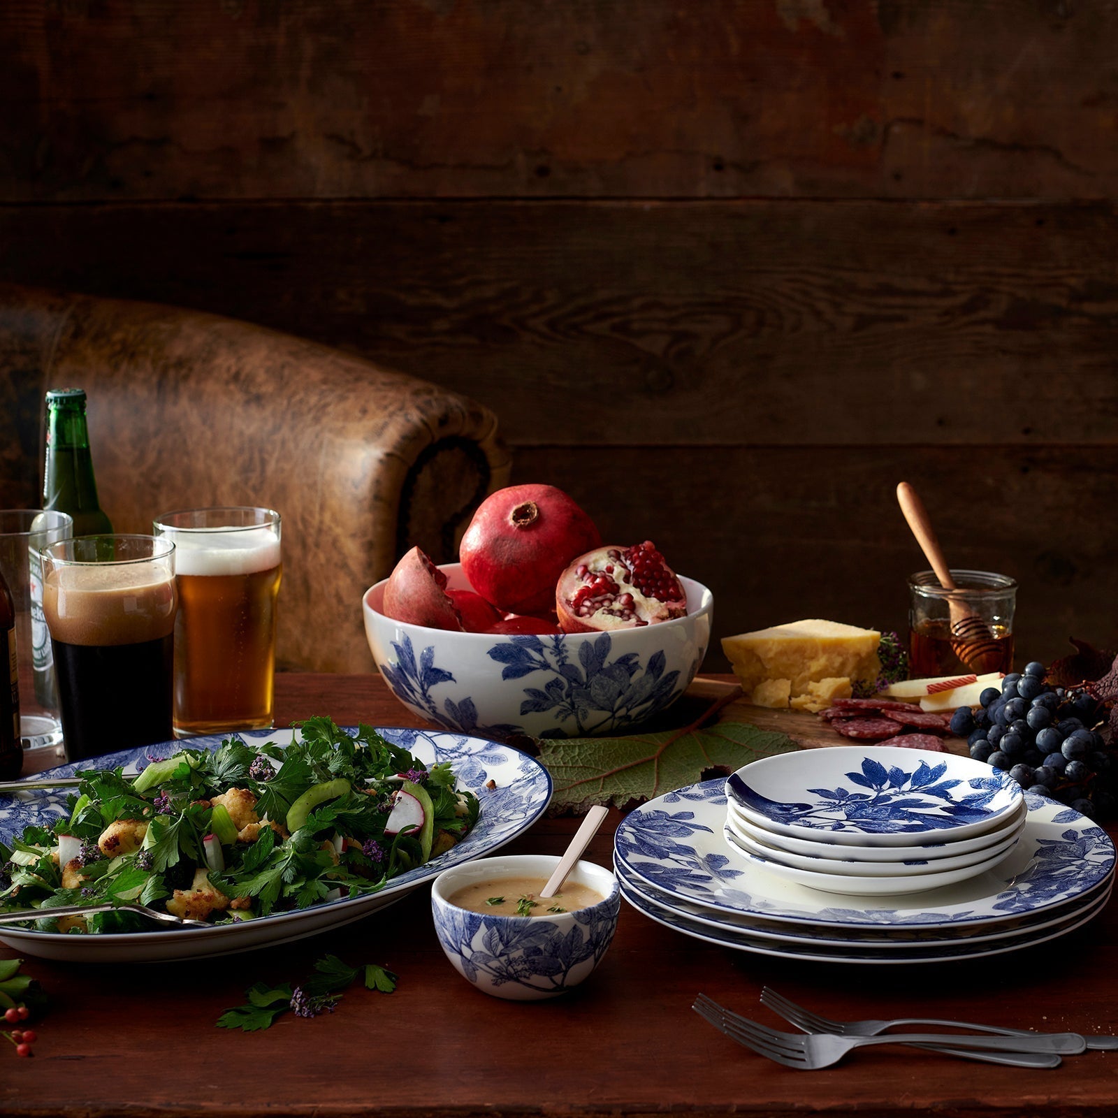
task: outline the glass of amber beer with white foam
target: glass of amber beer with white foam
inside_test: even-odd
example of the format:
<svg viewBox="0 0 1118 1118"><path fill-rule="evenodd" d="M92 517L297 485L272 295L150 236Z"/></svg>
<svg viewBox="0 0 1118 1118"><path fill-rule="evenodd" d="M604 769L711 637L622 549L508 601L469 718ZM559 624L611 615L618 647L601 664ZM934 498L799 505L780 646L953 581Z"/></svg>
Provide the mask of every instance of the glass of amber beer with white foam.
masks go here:
<svg viewBox="0 0 1118 1118"><path fill-rule="evenodd" d="M271 729L280 513L183 509L154 531L176 546L174 732Z"/></svg>

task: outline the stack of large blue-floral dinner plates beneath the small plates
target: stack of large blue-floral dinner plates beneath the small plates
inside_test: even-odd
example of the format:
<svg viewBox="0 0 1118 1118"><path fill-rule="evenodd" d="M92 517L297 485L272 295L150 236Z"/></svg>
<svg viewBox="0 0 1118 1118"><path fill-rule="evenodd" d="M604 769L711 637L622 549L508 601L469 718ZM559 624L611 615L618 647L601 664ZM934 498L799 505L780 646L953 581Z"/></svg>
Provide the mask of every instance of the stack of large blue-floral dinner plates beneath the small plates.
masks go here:
<svg viewBox="0 0 1118 1118"><path fill-rule="evenodd" d="M887 754L882 747L847 751L860 756L856 765L843 769L844 777L847 771L865 775L862 761L883 764ZM825 752L830 751L787 756L803 756L802 765L812 764L814 758L814 764L821 766L819 755ZM897 752L904 755L903 759L884 766L891 781L910 779L919 771L921 762L936 768L946 756L932 757L915 750ZM897 773L890 773L891 768ZM984 777L994 776L987 766L983 768ZM745 771L751 776L756 768L750 766ZM877 773L872 766L871 771ZM815 773L811 788L828 793L842 788L849 794L856 789L872 799L873 789L860 786L859 781L828 783L821 769L816 768ZM947 779L954 777L948 777L945 770L931 785ZM747 783L752 786L752 781ZM828 797L821 795L821 798ZM891 814L899 828L879 831L872 843L865 845L835 841L836 835L846 832L833 830L834 819L819 827L805 824L802 830L805 834L817 832L819 836L830 836L835 847L852 855L850 861L856 860L859 868L888 865L888 858L879 861L877 855L884 856L898 849L896 840L899 836L920 834L904 830L912 821L903 816L915 806L906 803L908 798L893 798L892 812L883 813L887 817ZM850 796L846 799L854 805L866 803L851 800ZM806 805L813 800L814 797L806 796L798 800L780 797L774 802ZM735 804L738 806L737 802ZM912 890L888 896L874 893L873 887L866 885L862 893L840 897L831 890L805 885L783 872L800 866L776 863L770 855L752 854L737 845L748 832L743 826L740 831L729 826L727 781L708 780L660 796L631 812L617 828L614 868L622 894L638 911L688 936L738 950L860 964L935 963L994 956L1079 928L1101 911L1114 881L1115 847L1101 827L1062 804L1029 793L1023 796L1023 807L1018 802L1016 809L1024 812L1023 819L1016 819L1011 808L1007 818L1002 821L1008 828L1005 836L1001 843L993 842L994 847L1006 844L1002 854L995 855L991 850L972 866L956 866L966 870L982 864L987 856L993 860L974 875L945 881L935 888L928 887L930 878L925 877ZM797 812L797 816L805 818L806 813ZM736 822L746 821L741 816ZM796 826L787 818L779 822ZM968 819L959 825L974 822L978 821ZM1013 834L1013 828L1018 826L1020 831ZM949 839L948 833L932 834L929 839L925 832L923 839L907 853L965 861L980 852L982 841L989 841L997 830L994 821L989 831L978 830L964 837L958 837L954 827L948 832L956 834L954 839ZM817 837L798 837L798 834L789 835L770 827L765 843L774 850L798 855L803 853L800 850L777 846L773 836L804 843L818 841ZM960 846L942 855L940 841ZM963 845L976 841L979 845L970 849ZM823 853L827 852L813 847L804 856L821 858ZM824 860L841 864L845 871L846 859L835 858L834 851L830 854ZM904 861L902 859L901 863ZM781 872L774 869L778 864ZM889 880L897 875L894 870L896 866L883 877L873 873L861 877L866 882ZM940 872L950 874L954 871L931 871ZM850 874L842 872L839 875Z"/></svg>

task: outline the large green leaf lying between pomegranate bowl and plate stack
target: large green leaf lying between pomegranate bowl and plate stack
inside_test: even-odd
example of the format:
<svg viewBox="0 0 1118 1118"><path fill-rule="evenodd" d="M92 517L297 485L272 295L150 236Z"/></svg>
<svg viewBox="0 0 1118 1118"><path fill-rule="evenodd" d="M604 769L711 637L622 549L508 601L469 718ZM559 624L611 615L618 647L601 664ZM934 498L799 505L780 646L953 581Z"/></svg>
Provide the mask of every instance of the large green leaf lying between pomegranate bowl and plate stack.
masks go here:
<svg viewBox="0 0 1118 1118"><path fill-rule="evenodd" d="M799 747L785 733L722 721L624 738L540 741L540 761L555 780L551 811L581 814L595 804L624 807L702 779L703 771L740 768Z"/></svg>

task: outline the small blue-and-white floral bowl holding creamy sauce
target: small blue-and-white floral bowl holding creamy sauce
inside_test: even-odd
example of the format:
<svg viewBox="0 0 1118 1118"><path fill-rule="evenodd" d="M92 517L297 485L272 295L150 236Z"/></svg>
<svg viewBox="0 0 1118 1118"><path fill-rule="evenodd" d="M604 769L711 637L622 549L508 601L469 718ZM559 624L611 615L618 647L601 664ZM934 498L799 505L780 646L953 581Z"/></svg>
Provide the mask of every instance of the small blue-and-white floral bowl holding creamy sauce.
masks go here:
<svg viewBox="0 0 1118 1118"><path fill-rule="evenodd" d="M578 862L568 881L604 899L572 912L498 916L452 904L459 889L480 881L500 888L502 878L551 877L556 855L504 854L464 862L440 873L430 890L435 931L463 978L485 994L512 1002L558 997L585 982L601 961L617 930L622 906L617 879L594 862Z"/></svg>

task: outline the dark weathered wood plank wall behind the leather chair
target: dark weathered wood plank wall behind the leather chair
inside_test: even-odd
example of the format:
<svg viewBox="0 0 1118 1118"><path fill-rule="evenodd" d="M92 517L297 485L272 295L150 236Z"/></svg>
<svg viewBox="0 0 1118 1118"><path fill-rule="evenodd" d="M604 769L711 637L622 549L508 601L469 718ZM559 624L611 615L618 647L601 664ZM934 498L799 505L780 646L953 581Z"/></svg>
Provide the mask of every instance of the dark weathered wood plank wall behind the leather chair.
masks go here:
<svg viewBox="0 0 1118 1118"><path fill-rule="evenodd" d="M0 278L467 392L719 635L902 628L906 479L1025 659L1116 646L1116 57L1063 0L6 0Z"/></svg>

